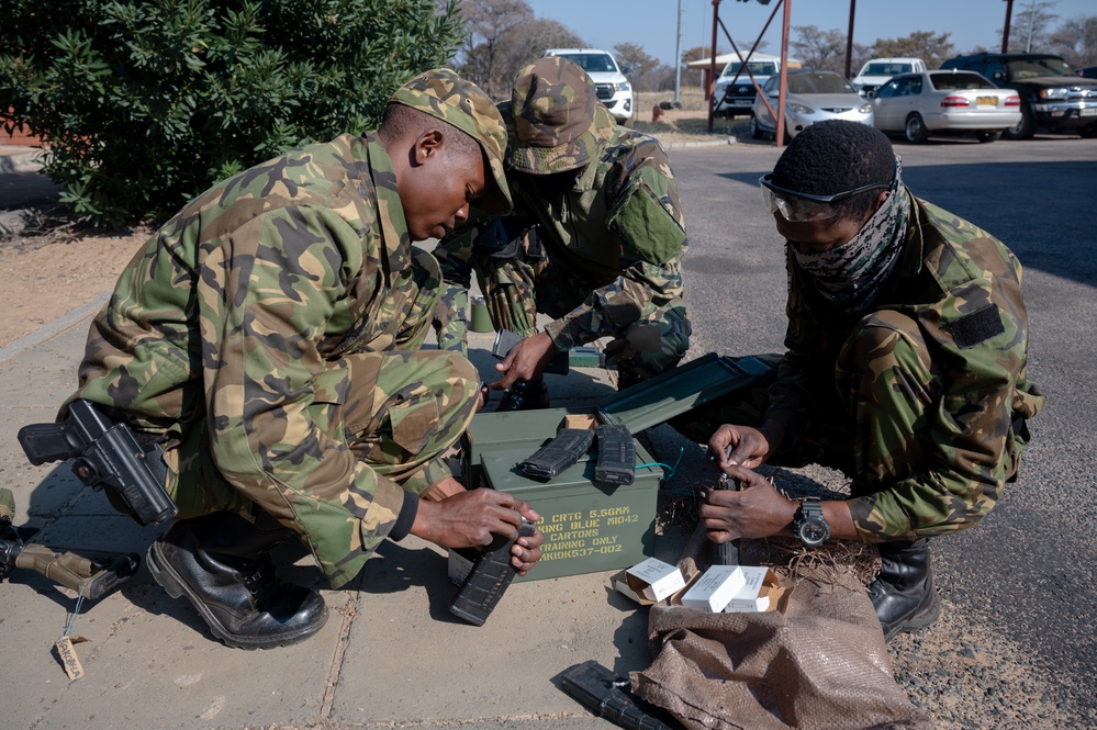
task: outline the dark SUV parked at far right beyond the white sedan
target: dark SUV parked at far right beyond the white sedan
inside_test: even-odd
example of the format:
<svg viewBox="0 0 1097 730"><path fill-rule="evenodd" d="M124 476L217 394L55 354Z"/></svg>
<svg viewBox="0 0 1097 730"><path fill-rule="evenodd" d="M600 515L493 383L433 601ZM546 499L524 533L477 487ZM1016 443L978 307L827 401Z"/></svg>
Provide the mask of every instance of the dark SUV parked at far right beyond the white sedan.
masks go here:
<svg viewBox="0 0 1097 730"><path fill-rule="evenodd" d="M1020 94L1021 121L1003 133L1007 139L1031 139L1039 127L1097 136L1097 79L1076 75L1059 56L978 53L950 58L941 68L975 71Z"/></svg>

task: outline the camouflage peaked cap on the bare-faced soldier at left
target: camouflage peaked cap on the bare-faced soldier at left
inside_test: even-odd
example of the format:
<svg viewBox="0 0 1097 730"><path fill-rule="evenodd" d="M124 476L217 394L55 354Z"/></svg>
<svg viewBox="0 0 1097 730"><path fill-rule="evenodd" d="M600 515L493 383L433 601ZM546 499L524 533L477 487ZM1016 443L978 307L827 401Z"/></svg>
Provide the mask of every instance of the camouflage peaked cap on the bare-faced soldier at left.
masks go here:
<svg viewBox="0 0 1097 730"><path fill-rule="evenodd" d="M436 68L419 74L396 89L389 103L405 104L426 112L475 139L488 157L495 182L494 189L489 187L478 206L492 213L511 212L514 204L503 170L506 125L495 104L480 87L448 68Z"/></svg>

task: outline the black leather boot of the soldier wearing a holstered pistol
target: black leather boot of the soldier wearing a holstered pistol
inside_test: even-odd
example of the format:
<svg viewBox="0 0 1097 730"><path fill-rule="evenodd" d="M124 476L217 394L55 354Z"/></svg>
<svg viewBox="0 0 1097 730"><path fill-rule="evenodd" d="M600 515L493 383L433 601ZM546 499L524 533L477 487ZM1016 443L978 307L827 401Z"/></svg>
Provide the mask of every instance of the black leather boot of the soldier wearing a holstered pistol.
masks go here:
<svg viewBox="0 0 1097 730"><path fill-rule="evenodd" d="M172 598L187 596L230 647L272 649L304 641L327 620L318 592L284 583L270 550L292 536L262 515L181 519L148 549L148 569Z"/></svg>

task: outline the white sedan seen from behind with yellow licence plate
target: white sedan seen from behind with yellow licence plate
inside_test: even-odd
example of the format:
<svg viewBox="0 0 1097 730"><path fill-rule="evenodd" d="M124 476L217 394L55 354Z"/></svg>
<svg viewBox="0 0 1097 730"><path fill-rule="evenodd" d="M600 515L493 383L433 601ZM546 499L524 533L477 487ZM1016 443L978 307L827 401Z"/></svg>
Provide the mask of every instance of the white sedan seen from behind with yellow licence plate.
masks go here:
<svg viewBox="0 0 1097 730"><path fill-rule="evenodd" d="M876 89L872 123L922 143L936 134L974 134L994 142L1021 120L1021 98L975 71L903 74Z"/></svg>

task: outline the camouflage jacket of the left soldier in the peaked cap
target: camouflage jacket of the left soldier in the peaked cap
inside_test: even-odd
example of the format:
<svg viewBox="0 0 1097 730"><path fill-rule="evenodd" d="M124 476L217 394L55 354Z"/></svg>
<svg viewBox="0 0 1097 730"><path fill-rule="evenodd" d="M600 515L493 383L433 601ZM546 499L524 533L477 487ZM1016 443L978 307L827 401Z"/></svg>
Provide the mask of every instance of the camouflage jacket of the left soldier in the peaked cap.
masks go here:
<svg viewBox="0 0 1097 730"><path fill-rule="evenodd" d="M122 273L72 397L159 438L181 517L246 512L246 494L293 525L342 585L405 498L347 448L336 419L346 356L403 345L387 311L412 259L403 215L392 160L372 135L215 186Z"/></svg>

